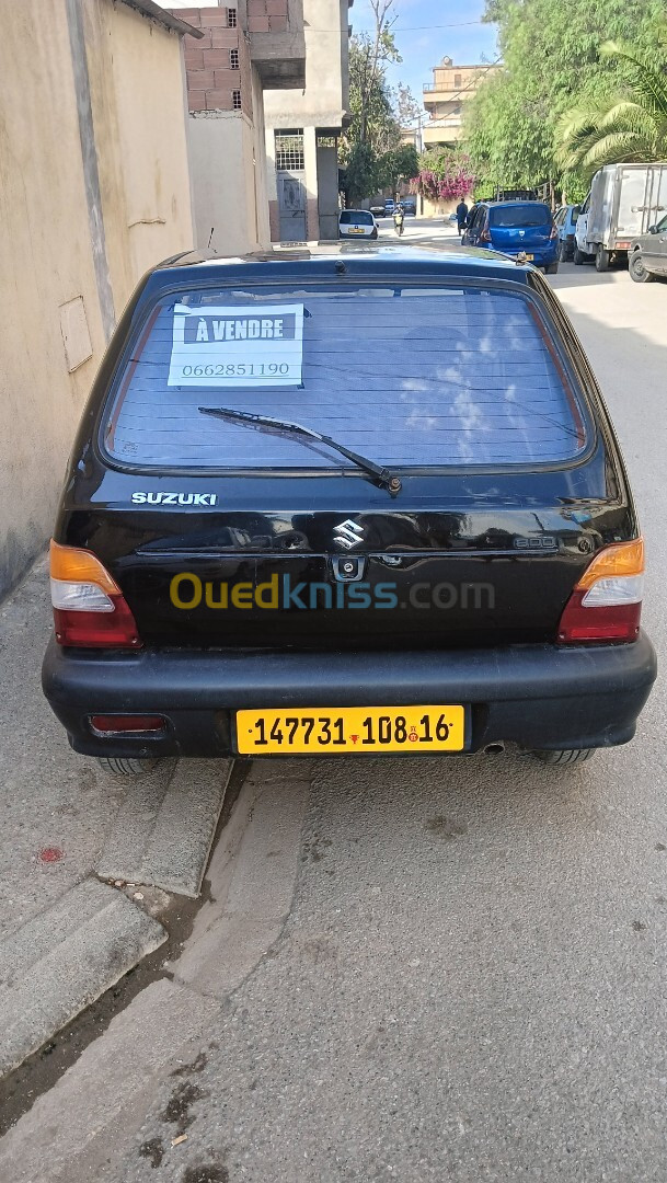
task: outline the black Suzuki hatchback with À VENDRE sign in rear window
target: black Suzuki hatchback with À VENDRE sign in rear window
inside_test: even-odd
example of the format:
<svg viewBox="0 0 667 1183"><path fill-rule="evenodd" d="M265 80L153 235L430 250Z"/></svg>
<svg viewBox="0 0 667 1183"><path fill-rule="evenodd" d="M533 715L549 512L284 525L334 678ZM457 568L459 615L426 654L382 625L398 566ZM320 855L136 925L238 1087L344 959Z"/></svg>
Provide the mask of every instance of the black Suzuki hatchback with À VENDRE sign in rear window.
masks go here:
<svg viewBox="0 0 667 1183"><path fill-rule="evenodd" d="M531 266L339 247L169 260L75 444L44 689L73 748L551 763L655 677L643 545L581 345Z"/></svg>

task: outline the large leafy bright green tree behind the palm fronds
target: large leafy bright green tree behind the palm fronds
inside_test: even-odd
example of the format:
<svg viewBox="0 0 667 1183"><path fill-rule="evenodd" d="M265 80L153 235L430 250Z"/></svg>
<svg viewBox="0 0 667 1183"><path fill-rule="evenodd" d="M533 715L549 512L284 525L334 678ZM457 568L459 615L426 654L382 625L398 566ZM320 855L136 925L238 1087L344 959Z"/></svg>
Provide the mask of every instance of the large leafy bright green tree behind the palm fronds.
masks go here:
<svg viewBox="0 0 667 1183"><path fill-rule="evenodd" d="M552 181L575 195L583 175L556 160L559 119L622 79L622 64L600 54L604 37L647 51L663 17L665 0L487 0L485 19L498 24L503 65L466 104L464 124L483 186Z"/></svg>

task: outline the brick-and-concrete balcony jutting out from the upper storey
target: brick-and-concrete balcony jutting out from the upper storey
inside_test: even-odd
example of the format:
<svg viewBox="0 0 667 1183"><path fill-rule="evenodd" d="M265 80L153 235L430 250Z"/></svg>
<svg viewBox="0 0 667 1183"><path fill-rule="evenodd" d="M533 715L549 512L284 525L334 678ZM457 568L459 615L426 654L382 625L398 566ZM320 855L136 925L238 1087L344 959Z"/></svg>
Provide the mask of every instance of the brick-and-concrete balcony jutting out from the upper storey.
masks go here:
<svg viewBox="0 0 667 1183"><path fill-rule="evenodd" d="M303 89L304 0L239 0L239 18L265 90Z"/></svg>

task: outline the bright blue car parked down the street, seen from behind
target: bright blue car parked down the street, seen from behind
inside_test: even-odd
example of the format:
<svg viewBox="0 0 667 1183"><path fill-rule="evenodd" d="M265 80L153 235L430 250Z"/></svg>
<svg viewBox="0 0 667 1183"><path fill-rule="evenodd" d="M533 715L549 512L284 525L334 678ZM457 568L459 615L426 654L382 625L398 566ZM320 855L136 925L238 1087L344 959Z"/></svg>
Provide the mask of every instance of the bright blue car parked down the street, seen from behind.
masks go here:
<svg viewBox="0 0 667 1183"><path fill-rule="evenodd" d="M549 274L558 271L558 231L543 201L480 201L471 211L461 244L522 254Z"/></svg>

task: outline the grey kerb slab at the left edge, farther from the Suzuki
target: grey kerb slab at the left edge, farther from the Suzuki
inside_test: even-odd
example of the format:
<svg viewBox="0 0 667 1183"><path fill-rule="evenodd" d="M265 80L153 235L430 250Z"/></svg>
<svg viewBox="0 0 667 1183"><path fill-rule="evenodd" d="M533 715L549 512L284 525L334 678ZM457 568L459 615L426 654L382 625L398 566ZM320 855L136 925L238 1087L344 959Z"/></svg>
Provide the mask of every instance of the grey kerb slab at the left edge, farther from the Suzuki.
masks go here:
<svg viewBox="0 0 667 1183"><path fill-rule="evenodd" d="M166 939L157 920L96 879L32 917L0 945L0 1075Z"/></svg>

